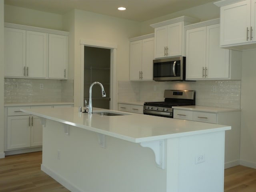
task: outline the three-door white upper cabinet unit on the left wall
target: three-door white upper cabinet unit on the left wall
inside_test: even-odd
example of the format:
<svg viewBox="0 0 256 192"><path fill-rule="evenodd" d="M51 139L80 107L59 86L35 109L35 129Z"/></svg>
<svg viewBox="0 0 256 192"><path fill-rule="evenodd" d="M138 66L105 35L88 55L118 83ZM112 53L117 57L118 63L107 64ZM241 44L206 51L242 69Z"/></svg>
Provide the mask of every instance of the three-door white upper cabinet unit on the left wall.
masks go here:
<svg viewBox="0 0 256 192"><path fill-rule="evenodd" d="M9 23L4 30L5 77L67 79L68 32Z"/></svg>

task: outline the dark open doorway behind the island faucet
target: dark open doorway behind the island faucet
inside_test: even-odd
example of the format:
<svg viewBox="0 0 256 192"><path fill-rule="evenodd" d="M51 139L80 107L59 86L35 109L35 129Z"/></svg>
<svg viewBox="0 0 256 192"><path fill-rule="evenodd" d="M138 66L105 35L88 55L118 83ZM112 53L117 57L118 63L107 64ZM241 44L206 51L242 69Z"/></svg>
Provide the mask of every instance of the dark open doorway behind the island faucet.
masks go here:
<svg viewBox="0 0 256 192"><path fill-rule="evenodd" d="M106 97L102 97L100 86L92 87L93 107L110 109L111 58L111 49L84 46L84 100L89 103L93 82L100 82L106 92Z"/></svg>

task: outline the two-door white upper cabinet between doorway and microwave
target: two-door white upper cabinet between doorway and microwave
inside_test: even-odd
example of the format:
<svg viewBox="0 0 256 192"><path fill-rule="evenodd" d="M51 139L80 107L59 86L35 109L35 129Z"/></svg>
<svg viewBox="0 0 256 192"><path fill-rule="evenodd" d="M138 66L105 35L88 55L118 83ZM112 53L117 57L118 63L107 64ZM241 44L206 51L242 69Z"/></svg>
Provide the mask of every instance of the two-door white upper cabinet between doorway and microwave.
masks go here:
<svg viewBox="0 0 256 192"><path fill-rule="evenodd" d="M154 34L140 38L149 36ZM130 42L130 80L153 80L153 59L154 37Z"/></svg>

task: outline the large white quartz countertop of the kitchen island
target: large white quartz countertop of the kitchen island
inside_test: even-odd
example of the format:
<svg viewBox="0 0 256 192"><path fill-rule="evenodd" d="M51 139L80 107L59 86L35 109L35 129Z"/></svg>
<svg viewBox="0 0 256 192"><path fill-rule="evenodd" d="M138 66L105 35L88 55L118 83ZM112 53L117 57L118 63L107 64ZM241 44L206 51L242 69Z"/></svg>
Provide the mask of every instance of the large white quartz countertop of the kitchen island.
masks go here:
<svg viewBox="0 0 256 192"><path fill-rule="evenodd" d="M21 108L21 111L135 143L231 129L230 126L218 124L104 110L100 108L94 108L93 112L107 111L126 115L101 116L100 114L88 114L78 112L78 107Z"/></svg>

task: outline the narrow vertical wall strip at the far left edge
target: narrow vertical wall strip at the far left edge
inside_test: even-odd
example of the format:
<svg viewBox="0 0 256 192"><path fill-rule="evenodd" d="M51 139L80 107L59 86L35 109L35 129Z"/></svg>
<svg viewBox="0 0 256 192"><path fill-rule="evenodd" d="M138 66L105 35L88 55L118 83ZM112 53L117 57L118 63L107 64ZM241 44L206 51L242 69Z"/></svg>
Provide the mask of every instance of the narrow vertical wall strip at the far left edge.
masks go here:
<svg viewBox="0 0 256 192"><path fill-rule="evenodd" d="M0 158L4 158L4 0L0 0Z"/></svg>

